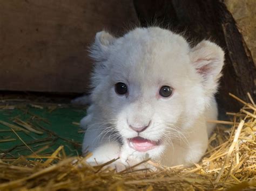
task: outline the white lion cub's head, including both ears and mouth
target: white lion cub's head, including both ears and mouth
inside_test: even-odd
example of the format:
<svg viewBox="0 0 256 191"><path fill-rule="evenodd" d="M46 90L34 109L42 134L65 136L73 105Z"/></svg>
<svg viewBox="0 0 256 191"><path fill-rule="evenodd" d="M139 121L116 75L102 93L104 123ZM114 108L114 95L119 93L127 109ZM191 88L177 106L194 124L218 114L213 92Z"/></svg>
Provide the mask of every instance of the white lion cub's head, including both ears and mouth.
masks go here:
<svg viewBox="0 0 256 191"><path fill-rule="evenodd" d="M123 37L96 35L92 101L124 144L159 155L183 139L218 86L224 53L210 41L191 48L159 27L137 28Z"/></svg>

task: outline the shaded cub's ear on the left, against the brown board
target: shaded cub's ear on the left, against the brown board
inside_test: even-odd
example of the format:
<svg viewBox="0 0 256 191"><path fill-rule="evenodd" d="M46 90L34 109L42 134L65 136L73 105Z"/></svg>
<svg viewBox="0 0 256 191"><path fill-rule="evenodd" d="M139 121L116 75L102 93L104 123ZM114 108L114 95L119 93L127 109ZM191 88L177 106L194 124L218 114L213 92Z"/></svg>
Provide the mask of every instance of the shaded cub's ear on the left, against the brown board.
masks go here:
<svg viewBox="0 0 256 191"><path fill-rule="evenodd" d="M95 61L104 61L107 59L109 47L116 40L110 33L100 31L96 33L95 42L90 47L90 56Z"/></svg>

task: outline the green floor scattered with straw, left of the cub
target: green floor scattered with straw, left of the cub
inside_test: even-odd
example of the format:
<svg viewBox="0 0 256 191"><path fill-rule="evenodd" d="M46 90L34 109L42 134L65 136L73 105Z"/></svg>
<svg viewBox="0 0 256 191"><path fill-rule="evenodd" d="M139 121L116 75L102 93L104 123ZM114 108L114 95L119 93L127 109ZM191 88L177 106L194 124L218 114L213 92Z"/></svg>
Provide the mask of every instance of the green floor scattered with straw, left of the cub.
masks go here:
<svg viewBox="0 0 256 191"><path fill-rule="evenodd" d="M44 105L14 104L2 107L0 109L0 159L13 159L19 155L28 156L32 152L39 152L38 155L50 154L60 145L64 145L67 155L81 154L83 131L78 123L85 114L84 108L70 106L63 108L58 105L44 107ZM28 123L37 133L14 123L15 120ZM13 131L6 122L23 130L14 129Z"/></svg>

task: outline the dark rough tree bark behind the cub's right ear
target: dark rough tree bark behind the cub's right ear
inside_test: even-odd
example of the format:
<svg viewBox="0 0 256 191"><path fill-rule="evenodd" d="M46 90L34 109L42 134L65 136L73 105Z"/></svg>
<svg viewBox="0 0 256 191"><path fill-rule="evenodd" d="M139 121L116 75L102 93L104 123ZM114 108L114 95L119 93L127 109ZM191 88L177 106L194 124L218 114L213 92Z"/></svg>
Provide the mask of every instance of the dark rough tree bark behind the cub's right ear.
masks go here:
<svg viewBox="0 0 256 191"><path fill-rule="evenodd" d="M241 108L228 93L248 101L248 92L256 100L256 69L250 50L222 1L134 0L134 6L142 26L159 22L175 32L185 31L185 37L193 45L210 39L225 50L225 67L217 95L222 114Z"/></svg>

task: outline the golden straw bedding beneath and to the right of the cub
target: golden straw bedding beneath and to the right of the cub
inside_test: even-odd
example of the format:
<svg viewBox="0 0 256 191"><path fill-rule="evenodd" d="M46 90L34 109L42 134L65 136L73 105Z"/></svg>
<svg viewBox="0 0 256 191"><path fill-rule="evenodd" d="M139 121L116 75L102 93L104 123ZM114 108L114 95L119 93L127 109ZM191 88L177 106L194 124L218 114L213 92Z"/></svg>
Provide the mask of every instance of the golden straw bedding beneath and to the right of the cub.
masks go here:
<svg viewBox="0 0 256 191"><path fill-rule="evenodd" d="M37 151L0 160L0 190L255 190L256 106L249 94L250 103L231 96L244 107L236 114L227 113L230 122L212 121L218 128L203 159L191 168L163 167L149 160L144 162L157 171L130 167L117 173L104 168L107 164L92 167L85 158L66 157L60 146L50 155Z"/></svg>

